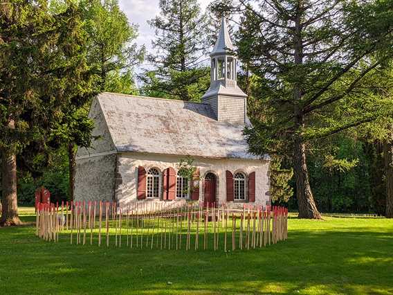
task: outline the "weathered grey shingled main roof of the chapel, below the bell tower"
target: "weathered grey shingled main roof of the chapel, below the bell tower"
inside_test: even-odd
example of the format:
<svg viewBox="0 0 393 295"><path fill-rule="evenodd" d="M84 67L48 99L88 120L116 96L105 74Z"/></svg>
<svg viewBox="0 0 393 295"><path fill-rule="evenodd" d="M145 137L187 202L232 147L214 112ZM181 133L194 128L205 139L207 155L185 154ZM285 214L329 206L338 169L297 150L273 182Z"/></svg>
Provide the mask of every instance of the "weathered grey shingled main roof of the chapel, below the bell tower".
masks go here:
<svg viewBox="0 0 393 295"><path fill-rule="evenodd" d="M116 93L98 102L118 152L259 159L248 153L244 126L218 122L210 105Z"/></svg>

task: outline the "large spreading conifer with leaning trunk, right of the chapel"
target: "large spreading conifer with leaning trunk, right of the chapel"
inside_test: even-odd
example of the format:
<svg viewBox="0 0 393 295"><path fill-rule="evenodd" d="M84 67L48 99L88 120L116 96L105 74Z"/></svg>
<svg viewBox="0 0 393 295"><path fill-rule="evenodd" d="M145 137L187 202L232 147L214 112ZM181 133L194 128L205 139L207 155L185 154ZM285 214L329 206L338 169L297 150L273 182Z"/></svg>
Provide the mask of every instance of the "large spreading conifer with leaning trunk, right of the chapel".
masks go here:
<svg viewBox="0 0 393 295"><path fill-rule="evenodd" d="M266 104L246 129L250 148L291 157L299 217L320 218L309 148L392 110L378 98L353 95L392 58L392 3L240 0L230 8L241 12L239 58L261 79L263 96L256 97Z"/></svg>

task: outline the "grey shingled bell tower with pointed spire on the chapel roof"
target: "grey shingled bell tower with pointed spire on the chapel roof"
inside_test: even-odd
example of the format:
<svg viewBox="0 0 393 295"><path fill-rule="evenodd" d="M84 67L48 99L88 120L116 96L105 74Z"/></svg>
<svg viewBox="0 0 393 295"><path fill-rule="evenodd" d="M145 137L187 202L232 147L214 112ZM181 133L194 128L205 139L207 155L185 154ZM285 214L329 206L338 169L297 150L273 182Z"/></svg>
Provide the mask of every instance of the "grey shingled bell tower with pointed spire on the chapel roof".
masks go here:
<svg viewBox="0 0 393 295"><path fill-rule="evenodd" d="M210 87L202 96L202 102L212 107L217 120L244 125L247 95L237 86L237 58L224 17L210 62Z"/></svg>

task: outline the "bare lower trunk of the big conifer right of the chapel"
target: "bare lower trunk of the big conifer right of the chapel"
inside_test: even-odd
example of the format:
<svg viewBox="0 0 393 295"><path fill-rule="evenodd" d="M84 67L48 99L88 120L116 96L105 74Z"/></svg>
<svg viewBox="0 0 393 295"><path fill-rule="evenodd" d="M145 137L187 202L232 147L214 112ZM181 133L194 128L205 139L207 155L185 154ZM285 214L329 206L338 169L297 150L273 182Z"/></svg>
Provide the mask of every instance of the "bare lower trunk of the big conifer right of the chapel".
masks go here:
<svg viewBox="0 0 393 295"><path fill-rule="evenodd" d="M295 138L293 151L294 167L293 173L296 180L296 197L298 197L299 218L320 219L321 215L314 202L313 193L309 183L309 172L306 162L306 147L302 138Z"/></svg>

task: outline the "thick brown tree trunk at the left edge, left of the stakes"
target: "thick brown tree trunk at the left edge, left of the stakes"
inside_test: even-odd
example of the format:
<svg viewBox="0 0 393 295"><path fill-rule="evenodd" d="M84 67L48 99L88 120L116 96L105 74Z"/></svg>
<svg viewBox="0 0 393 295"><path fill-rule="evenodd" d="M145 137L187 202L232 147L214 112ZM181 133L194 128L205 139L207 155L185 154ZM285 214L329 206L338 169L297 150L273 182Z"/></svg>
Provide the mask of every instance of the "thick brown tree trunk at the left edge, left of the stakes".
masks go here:
<svg viewBox="0 0 393 295"><path fill-rule="evenodd" d="M1 154L1 185L3 193L0 226L21 225L17 202L17 156L8 150L3 150Z"/></svg>

